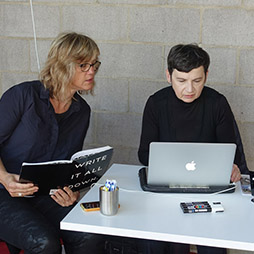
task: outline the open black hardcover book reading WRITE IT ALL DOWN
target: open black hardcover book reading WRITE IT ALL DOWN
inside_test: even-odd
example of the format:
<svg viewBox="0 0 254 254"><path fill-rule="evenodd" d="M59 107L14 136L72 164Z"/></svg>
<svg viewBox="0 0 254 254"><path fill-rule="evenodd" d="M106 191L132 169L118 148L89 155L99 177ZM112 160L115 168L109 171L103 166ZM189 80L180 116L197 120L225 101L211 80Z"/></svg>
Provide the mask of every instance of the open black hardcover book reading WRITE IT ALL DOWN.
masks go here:
<svg viewBox="0 0 254 254"><path fill-rule="evenodd" d="M107 171L113 148L104 146L75 153L70 160L23 162L19 181L39 186L34 195L52 195L68 186L72 191L90 187Z"/></svg>

